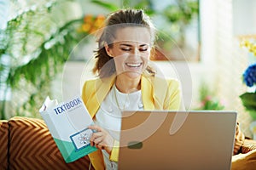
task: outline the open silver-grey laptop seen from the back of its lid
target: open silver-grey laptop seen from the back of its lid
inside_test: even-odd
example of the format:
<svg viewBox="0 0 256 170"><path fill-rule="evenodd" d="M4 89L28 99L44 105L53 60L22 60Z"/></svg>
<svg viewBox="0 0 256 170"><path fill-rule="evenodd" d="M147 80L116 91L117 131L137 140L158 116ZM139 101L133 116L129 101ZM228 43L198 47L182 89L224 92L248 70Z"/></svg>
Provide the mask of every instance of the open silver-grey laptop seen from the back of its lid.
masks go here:
<svg viewBox="0 0 256 170"><path fill-rule="evenodd" d="M123 115L119 169L230 170L236 111L123 111ZM175 132L174 119L181 124Z"/></svg>

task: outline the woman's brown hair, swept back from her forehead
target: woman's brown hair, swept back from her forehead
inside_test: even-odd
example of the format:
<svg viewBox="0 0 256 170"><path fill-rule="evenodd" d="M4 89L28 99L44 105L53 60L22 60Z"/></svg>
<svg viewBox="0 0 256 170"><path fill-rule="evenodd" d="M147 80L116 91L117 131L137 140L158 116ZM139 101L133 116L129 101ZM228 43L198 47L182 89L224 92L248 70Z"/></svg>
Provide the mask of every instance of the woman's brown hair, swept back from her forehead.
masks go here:
<svg viewBox="0 0 256 170"><path fill-rule="evenodd" d="M97 72L100 77L109 77L115 72L113 57L110 57L107 54L106 49L104 48L105 43L108 44L109 48L112 48L116 31L120 28L129 26L147 27L150 33L150 45L154 44L154 26L148 15L143 13L143 10L120 9L117 12L109 14L105 23L105 27L102 29L102 34L98 39L98 49L95 51L97 60L93 72ZM149 73L154 73L154 69L149 66L146 70Z"/></svg>

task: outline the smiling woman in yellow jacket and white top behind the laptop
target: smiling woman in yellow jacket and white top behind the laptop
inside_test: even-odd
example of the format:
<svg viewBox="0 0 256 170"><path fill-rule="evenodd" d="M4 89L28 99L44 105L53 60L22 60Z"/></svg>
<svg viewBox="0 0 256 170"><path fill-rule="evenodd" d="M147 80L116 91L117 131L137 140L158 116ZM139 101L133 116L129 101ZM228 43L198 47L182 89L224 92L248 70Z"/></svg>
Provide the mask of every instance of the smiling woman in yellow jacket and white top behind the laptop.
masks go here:
<svg viewBox="0 0 256 170"><path fill-rule="evenodd" d="M83 100L96 122L89 155L96 169L117 168L123 110L178 110L181 92L176 80L156 77L148 65L153 54L154 27L143 10L110 14L98 41L99 77L84 83Z"/></svg>

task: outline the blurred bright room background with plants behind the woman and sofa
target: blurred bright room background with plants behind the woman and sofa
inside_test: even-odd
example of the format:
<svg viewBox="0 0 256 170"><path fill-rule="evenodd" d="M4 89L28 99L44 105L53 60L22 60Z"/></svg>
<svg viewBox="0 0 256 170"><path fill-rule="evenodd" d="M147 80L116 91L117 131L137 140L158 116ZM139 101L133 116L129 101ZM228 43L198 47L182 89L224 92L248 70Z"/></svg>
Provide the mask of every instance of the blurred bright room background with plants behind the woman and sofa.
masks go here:
<svg viewBox="0 0 256 170"><path fill-rule="evenodd" d="M253 136L253 111L240 98L255 92L242 80L256 62L253 0L0 0L1 119L40 118L47 95L61 101L79 94L93 77L96 33L119 8L151 17L159 52L152 63L182 82L188 110L237 111Z"/></svg>

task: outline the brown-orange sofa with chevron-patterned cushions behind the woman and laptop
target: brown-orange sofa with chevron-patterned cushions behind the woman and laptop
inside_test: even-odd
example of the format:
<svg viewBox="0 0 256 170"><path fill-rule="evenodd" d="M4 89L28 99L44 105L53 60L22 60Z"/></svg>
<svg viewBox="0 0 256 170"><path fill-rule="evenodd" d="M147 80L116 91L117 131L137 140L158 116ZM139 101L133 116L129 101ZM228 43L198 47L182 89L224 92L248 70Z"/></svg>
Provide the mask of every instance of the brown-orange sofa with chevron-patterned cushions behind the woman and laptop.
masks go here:
<svg viewBox="0 0 256 170"><path fill-rule="evenodd" d="M88 156L66 163L41 119L15 116L0 121L0 169L94 169ZM216 162L218 163L218 162ZM256 169L256 141L246 139L232 156L232 170Z"/></svg>

